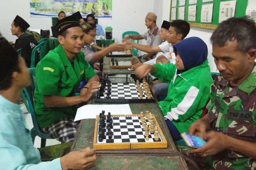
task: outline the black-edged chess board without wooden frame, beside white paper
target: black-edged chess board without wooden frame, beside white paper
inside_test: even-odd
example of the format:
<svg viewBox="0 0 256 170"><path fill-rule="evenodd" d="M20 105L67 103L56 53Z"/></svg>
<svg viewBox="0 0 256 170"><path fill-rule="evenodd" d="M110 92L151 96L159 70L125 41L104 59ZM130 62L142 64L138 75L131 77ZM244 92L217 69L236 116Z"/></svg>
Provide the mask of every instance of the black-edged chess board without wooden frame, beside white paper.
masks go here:
<svg viewBox="0 0 256 170"><path fill-rule="evenodd" d="M140 83L142 87L143 84ZM151 99L147 97L143 90L143 98L139 98L139 91L137 91L136 83L111 83L111 94L109 99L106 98L108 87L105 87L105 91L100 98L95 98L94 101L98 103L150 103L155 102L153 95Z"/></svg>

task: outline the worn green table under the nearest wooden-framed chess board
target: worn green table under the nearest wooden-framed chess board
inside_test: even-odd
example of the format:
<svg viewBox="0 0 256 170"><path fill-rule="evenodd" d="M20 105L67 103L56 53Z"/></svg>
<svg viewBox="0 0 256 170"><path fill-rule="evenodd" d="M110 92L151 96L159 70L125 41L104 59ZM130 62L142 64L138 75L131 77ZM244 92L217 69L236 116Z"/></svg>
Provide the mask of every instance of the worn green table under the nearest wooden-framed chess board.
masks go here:
<svg viewBox="0 0 256 170"><path fill-rule="evenodd" d="M93 100L89 104L94 103ZM101 103L108 104L108 103ZM188 170L185 159L177 151L170 132L165 124L161 111L155 103L130 103L133 114L150 111L155 115L159 126L168 142L167 148L97 150L97 160L91 169L97 170ZM108 112L106 110L106 112ZM90 114L90 113L88 113ZM86 147L93 148L95 119L84 119L80 122L78 133L71 150Z"/></svg>

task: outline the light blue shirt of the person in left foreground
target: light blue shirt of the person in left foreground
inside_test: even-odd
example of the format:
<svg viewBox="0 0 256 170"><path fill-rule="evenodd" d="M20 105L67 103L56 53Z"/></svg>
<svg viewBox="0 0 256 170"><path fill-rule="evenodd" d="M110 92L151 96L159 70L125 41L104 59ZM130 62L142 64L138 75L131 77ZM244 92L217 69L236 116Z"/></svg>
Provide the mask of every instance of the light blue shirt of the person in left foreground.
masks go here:
<svg viewBox="0 0 256 170"><path fill-rule="evenodd" d="M61 170L60 158L41 162L19 105L0 95L0 169Z"/></svg>

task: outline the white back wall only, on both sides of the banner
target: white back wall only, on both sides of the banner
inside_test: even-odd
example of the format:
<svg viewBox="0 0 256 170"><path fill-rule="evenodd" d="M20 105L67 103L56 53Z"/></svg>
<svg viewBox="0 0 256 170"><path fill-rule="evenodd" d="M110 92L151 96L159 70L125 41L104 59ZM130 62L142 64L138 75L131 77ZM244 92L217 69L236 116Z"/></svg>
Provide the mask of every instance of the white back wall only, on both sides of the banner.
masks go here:
<svg viewBox="0 0 256 170"><path fill-rule="evenodd" d="M137 31L143 34L147 31L144 25L145 16L148 12L154 11L154 2L155 0L113 0L112 19L99 19L98 23L104 30L106 26L111 26L116 41L121 41L124 31ZM30 24L29 29L51 30L51 18L30 17L29 10L29 0L8 0L1 3L0 31L8 41L15 42L17 38L10 31L16 15L20 15Z"/></svg>

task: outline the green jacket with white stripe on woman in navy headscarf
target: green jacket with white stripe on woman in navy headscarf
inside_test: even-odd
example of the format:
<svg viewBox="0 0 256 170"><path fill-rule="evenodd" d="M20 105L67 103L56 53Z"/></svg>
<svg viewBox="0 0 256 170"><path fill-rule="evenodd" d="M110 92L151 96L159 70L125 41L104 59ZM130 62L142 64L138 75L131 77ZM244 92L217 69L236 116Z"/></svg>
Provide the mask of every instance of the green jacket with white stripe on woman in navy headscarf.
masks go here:
<svg viewBox="0 0 256 170"><path fill-rule="evenodd" d="M166 119L172 121L180 133L188 132L189 126L201 118L210 99L212 84L208 60L188 71L176 75L175 64L155 64L153 76L170 83L167 97L158 102Z"/></svg>

